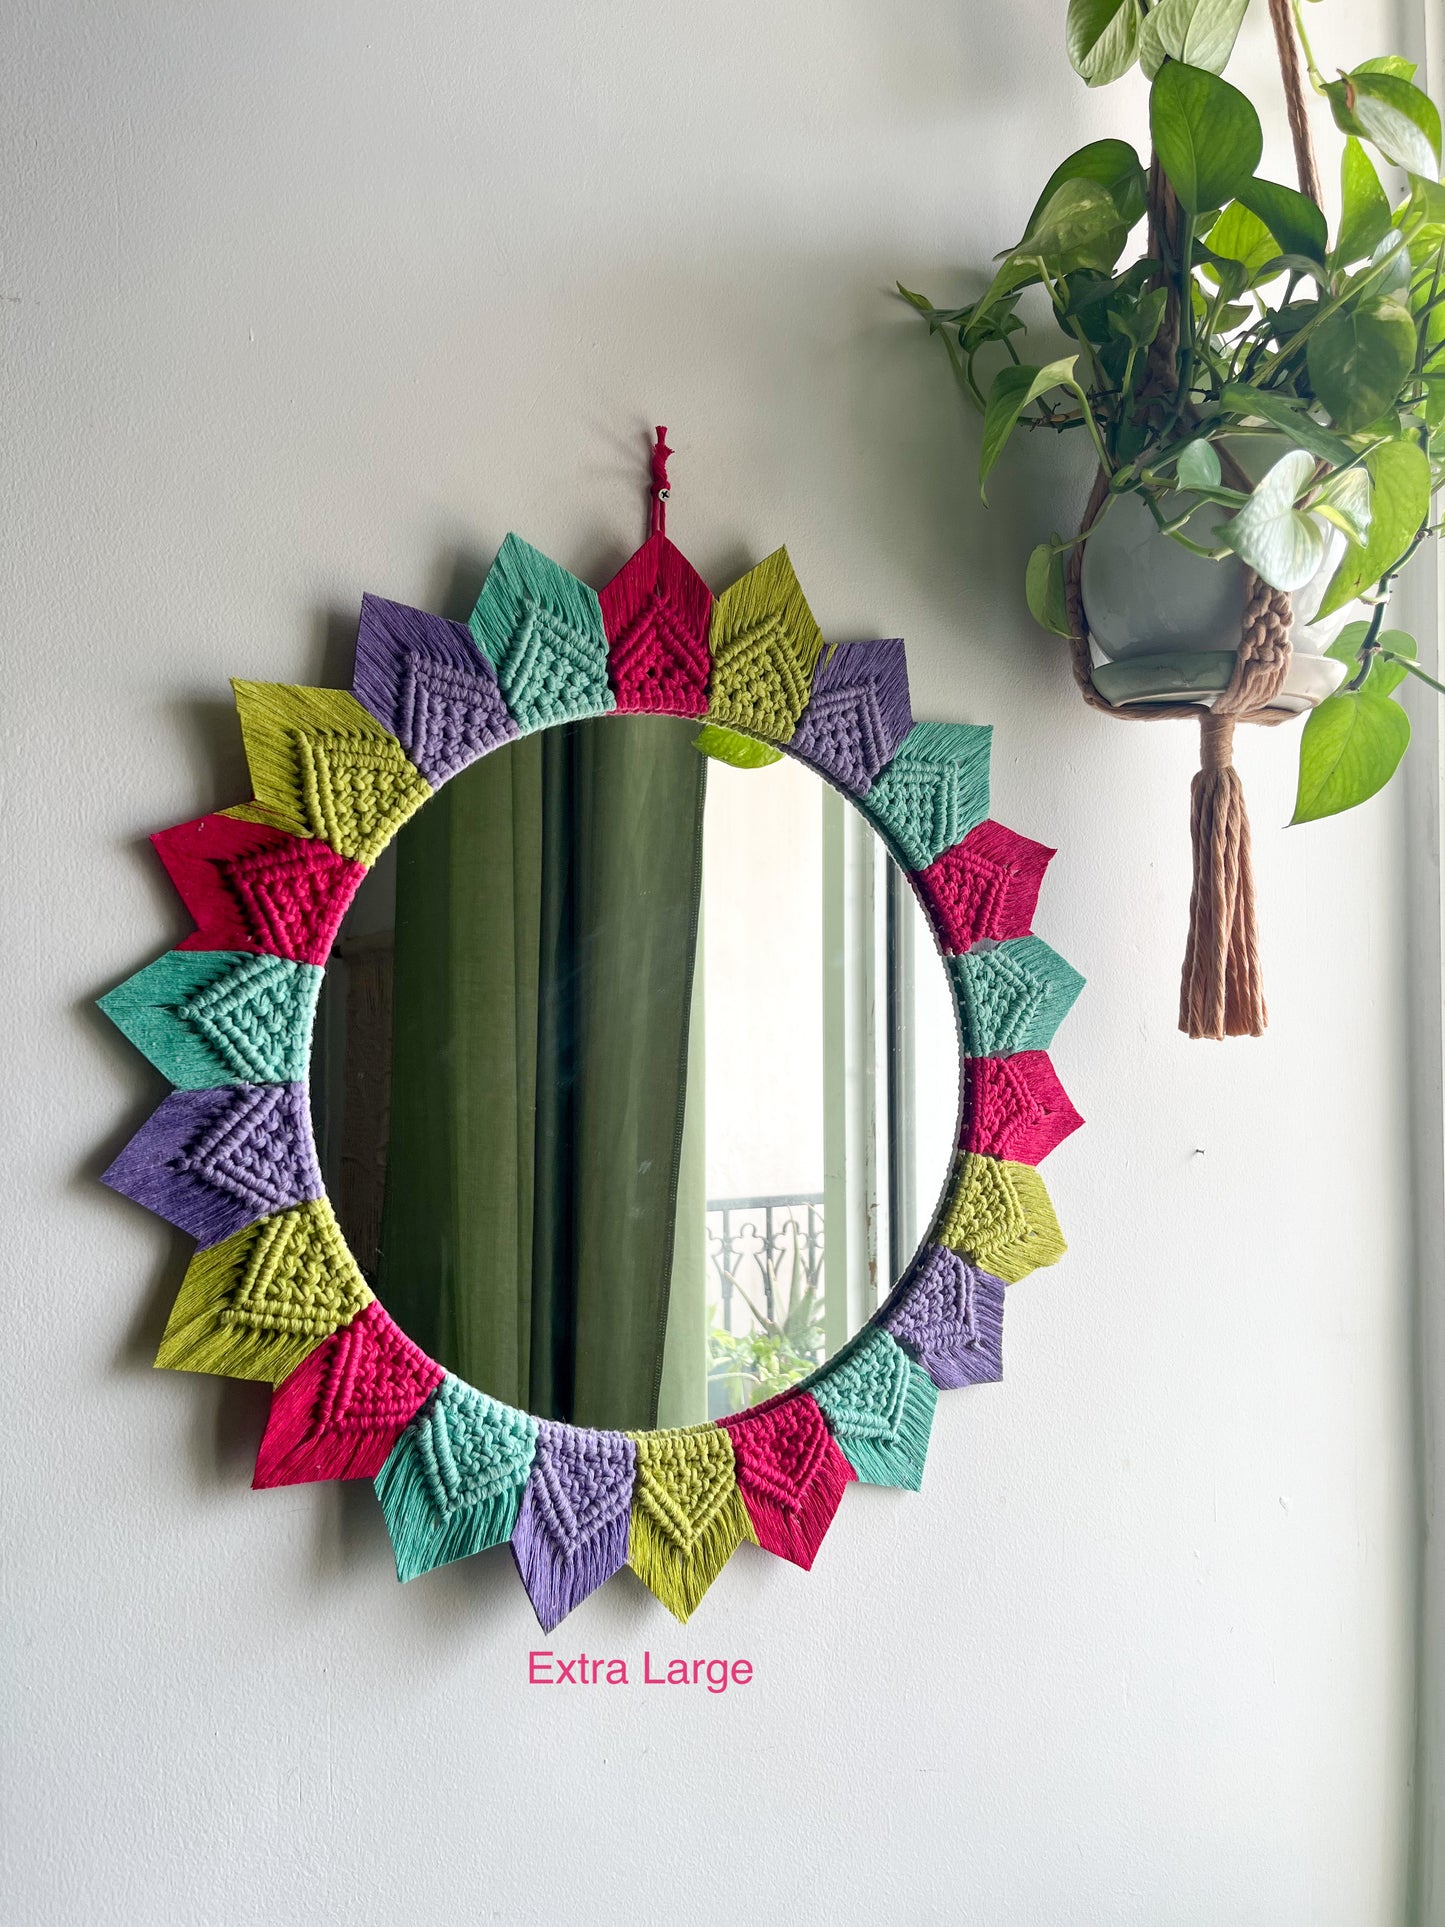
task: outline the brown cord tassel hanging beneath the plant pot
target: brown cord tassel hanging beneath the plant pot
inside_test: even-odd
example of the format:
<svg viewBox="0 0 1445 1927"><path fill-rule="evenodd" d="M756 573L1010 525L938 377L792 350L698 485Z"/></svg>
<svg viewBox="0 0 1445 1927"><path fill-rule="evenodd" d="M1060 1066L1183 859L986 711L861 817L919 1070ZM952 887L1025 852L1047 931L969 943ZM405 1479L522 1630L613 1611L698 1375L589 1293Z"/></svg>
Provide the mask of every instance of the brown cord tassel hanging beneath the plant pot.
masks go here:
<svg viewBox="0 0 1445 1927"><path fill-rule="evenodd" d="M1179 983L1179 1029L1189 1037L1262 1037L1270 1014L1260 977L1245 786L1231 763L1235 719L1200 719L1202 767L1189 788L1195 881Z"/></svg>

